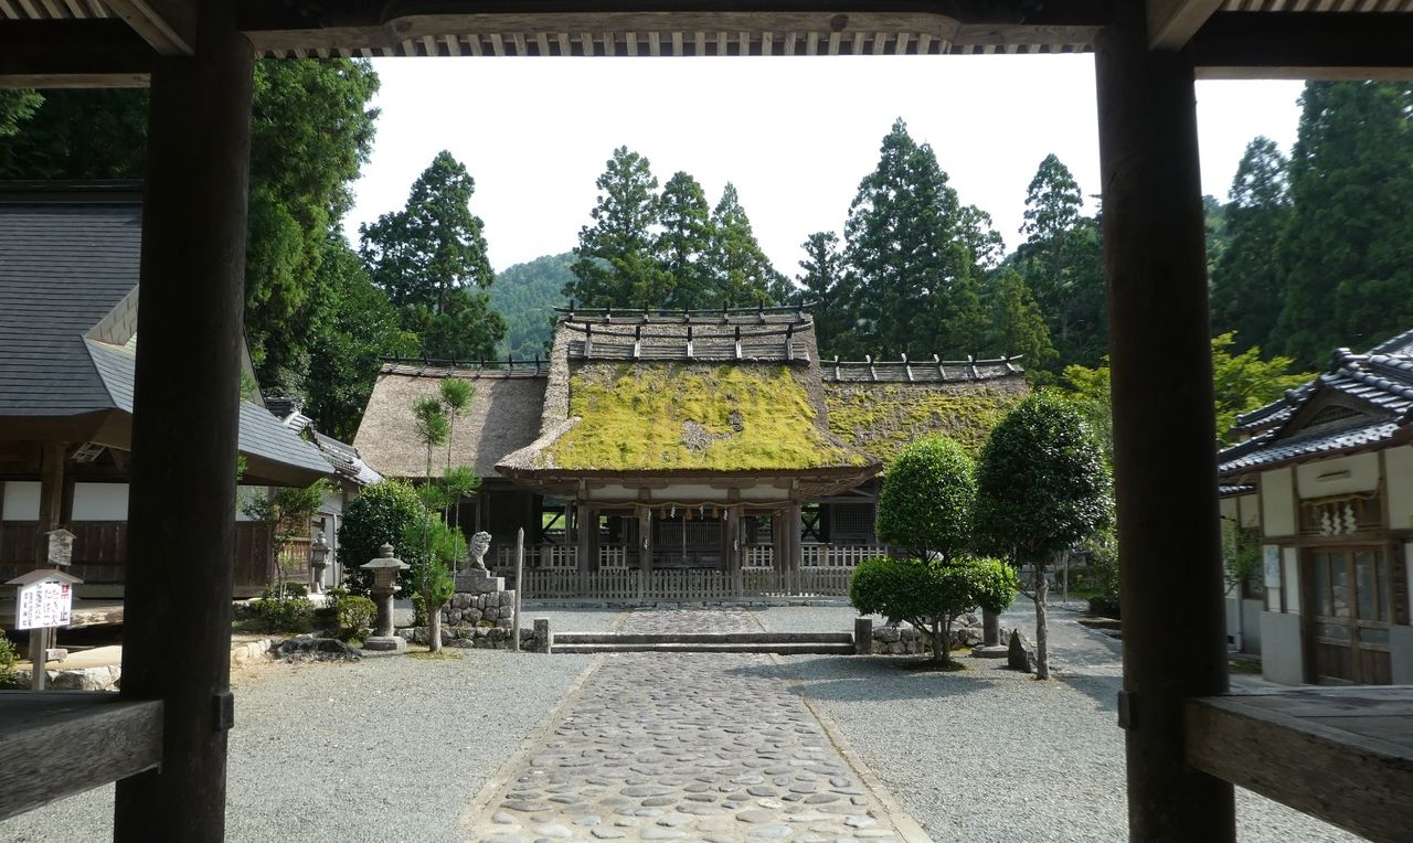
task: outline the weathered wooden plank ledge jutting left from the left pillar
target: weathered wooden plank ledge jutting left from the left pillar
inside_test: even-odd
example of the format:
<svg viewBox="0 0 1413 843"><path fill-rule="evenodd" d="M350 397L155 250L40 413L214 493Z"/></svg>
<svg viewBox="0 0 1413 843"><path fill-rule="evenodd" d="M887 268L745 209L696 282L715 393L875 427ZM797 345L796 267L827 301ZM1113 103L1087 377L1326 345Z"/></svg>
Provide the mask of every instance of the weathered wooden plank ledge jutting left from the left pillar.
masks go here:
<svg viewBox="0 0 1413 843"><path fill-rule="evenodd" d="M161 700L0 690L0 820L151 770L161 757Z"/></svg>

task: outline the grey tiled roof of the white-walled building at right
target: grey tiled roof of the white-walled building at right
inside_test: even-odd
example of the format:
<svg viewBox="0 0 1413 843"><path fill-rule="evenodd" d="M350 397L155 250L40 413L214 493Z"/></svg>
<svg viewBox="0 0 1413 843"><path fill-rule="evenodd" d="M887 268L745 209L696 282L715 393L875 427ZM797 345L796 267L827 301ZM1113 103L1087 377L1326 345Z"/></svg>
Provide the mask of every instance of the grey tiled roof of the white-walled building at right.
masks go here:
<svg viewBox="0 0 1413 843"><path fill-rule="evenodd" d="M1308 432L1289 431L1301 408L1318 394L1338 394L1347 400L1351 408L1347 424L1318 424ZM1287 391L1280 401L1239 417L1234 429L1258 435L1218 453L1221 474L1358 450L1413 435L1413 330L1365 354L1338 349L1330 371Z"/></svg>

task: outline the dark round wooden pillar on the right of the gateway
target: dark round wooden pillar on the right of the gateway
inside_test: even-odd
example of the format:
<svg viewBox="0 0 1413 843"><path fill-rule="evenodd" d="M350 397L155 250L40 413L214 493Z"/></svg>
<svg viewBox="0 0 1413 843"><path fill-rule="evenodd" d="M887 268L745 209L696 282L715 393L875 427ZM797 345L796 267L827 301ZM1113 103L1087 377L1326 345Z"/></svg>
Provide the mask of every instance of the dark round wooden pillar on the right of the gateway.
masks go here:
<svg viewBox="0 0 1413 843"><path fill-rule="evenodd" d="M1143 6L1113 4L1095 56L1129 839L1221 842L1232 787L1183 740L1183 700L1226 690L1193 62L1147 49Z"/></svg>

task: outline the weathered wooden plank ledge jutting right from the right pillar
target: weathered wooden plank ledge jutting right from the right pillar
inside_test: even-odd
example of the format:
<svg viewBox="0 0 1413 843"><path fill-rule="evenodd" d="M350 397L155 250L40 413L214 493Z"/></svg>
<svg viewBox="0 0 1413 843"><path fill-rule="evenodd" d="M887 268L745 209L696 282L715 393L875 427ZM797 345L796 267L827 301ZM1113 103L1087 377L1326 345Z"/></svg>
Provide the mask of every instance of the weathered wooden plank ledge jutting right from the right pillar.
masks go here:
<svg viewBox="0 0 1413 843"><path fill-rule="evenodd" d="M1402 693L1413 695L1413 688ZM1291 716L1245 696L1188 700L1187 760L1197 770L1371 840L1407 840L1413 827L1413 748L1338 727L1337 720ZM1402 722L1399 729L1406 733L1409 719L1393 720Z"/></svg>

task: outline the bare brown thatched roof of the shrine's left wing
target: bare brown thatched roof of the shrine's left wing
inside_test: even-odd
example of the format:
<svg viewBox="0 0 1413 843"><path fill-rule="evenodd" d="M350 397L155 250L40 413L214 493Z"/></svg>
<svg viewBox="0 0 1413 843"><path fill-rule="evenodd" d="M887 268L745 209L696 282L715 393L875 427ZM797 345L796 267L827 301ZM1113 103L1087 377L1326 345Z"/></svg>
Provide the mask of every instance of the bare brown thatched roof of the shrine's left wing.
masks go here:
<svg viewBox="0 0 1413 843"><path fill-rule="evenodd" d="M353 446L384 477L421 477L427 455L417 439L413 402L434 398L447 377L471 383L471 409L456 419L452 463L471 466L479 477L496 477L496 463L524 448L540 432L545 378L449 366L384 364L369 397ZM432 472L445 465L445 449L432 456Z"/></svg>

